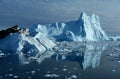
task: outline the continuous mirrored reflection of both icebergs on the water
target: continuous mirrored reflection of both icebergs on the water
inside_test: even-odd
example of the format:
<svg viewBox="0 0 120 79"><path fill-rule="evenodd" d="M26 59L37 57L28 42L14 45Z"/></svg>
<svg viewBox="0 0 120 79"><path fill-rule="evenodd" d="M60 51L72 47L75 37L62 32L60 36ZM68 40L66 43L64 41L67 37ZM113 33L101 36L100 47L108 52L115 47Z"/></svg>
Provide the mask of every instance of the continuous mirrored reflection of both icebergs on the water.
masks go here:
<svg viewBox="0 0 120 79"><path fill-rule="evenodd" d="M22 64L31 61L37 61L40 64L46 58L50 58L56 61L68 60L78 62L82 69L86 69L99 66L102 52L106 47L107 43L100 42L57 42L57 47L42 54L37 53L28 57L24 54L18 55Z"/></svg>

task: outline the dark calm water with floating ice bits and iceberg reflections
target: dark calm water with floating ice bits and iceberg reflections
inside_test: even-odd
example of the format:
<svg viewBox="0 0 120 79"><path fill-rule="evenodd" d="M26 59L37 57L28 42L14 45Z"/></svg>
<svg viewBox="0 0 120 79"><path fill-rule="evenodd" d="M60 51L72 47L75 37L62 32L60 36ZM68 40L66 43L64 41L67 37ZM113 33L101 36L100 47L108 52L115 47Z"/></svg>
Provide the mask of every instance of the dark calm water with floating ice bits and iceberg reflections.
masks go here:
<svg viewBox="0 0 120 79"><path fill-rule="evenodd" d="M120 79L120 42L58 42L42 54L0 51L0 79Z"/></svg>

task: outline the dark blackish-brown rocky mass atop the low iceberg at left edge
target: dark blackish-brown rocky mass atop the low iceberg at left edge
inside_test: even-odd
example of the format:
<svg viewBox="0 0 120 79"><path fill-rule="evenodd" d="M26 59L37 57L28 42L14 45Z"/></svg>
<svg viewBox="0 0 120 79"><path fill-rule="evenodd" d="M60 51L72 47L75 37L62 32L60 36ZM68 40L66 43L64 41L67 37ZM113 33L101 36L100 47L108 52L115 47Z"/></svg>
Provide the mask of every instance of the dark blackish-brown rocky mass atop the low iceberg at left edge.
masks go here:
<svg viewBox="0 0 120 79"><path fill-rule="evenodd" d="M0 31L0 39L3 39L5 38L6 36L8 36L9 34L11 33L16 33L16 32L19 32L21 29L19 28L18 25L15 25L11 28L8 28L6 30L1 30Z"/></svg>

